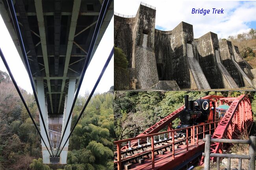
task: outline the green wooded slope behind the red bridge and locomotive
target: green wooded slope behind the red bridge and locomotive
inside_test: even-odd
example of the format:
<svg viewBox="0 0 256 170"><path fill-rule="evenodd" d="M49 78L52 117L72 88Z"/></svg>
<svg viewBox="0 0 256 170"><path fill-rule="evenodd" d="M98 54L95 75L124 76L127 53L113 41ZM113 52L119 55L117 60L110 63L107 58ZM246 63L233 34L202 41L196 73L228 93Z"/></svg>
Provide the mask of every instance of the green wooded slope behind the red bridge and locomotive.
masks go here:
<svg viewBox="0 0 256 170"><path fill-rule="evenodd" d="M193 99L206 95L221 95L224 97L237 97L247 94L252 102L254 118L256 116L256 93L254 91L128 91L115 92L114 117L117 140L135 137L144 132L174 110L184 104L184 95ZM255 119L254 119L255 120ZM174 128L178 118L174 120Z"/></svg>

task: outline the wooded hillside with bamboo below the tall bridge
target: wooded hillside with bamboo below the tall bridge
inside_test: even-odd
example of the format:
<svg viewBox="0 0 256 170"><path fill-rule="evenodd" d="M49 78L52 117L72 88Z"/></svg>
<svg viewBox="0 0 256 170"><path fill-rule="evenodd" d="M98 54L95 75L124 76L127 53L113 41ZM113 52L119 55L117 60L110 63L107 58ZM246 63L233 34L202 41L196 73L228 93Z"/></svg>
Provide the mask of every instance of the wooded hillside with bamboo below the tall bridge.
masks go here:
<svg viewBox="0 0 256 170"><path fill-rule="evenodd" d="M32 94L21 90L39 126ZM89 93L79 96L72 125ZM113 170L113 87L95 94L69 141L67 165L42 163L41 139L7 73L0 71L0 170Z"/></svg>

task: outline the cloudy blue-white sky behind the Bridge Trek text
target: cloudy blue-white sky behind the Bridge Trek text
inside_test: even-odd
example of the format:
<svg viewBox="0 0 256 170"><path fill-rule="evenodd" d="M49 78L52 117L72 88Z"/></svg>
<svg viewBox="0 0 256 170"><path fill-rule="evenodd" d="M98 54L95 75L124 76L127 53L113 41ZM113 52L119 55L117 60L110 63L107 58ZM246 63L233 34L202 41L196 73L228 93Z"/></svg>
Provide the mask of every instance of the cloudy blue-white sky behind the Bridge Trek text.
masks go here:
<svg viewBox="0 0 256 170"><path fill-rule="evenodd" d="M256 1L180 1L143 0L156 7L156 29L173 30L184 21L193 25L194 37L213 32L218 38L227 38L256 29ZM135 15L141 0L115 0L114 11L124 15ZM192 14L192 9L224 9L224 14Z"/></svg>

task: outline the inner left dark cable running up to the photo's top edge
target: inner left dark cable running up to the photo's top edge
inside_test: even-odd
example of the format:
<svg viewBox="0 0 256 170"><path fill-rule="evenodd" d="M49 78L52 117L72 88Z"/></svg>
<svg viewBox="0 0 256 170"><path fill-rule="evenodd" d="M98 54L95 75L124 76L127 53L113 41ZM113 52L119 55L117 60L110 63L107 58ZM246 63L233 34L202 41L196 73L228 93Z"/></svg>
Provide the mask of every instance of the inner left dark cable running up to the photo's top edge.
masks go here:
<svg viewBox="0 0 256 170"><path fill-rule="evenodd" d="M34 93L34 96L35 96L35 101L37 103L37 107L38 107L38 110L39 110L39 113L40 113L40 117L41 117L42 122L43 122L43 126L44 126L44 129L45 129L45 133L46 133L46 136L47 136L48 143L50 144L50 139L49 139L49 136L48 136L48 133L47 133L47 130L46 130L45 121L43 119L43 114L41 112L39 101L37 99L37 93L35 91L35 86L34 86L32 74L31 74L31 71L30 71L30 66L28 64L27 54L26 54L25 47L24 47L24 44L23 44L23 40L22 40L22 36L21 36L21 33L20 33L20 28L19 28L19 24L18 24L18 20L17 20L17 16L16 16L16 12L15 12L12 0L7 0L7 4L9 6L9 11L11 13L11 18L13 20L14 29L16 31L16 34L17 34L17 37L18 37L18 40L19 40L20 48L21 48L22 55L23 55L23 58L24 58L24 63L26 65L26 69L27 69L27 72L28 72L28 77L30 79L32 90L33 90L33 93ZM52 151L51 144L50 144L50 149ZM52 152L52 155L54 155L53 152Z"/></svg>

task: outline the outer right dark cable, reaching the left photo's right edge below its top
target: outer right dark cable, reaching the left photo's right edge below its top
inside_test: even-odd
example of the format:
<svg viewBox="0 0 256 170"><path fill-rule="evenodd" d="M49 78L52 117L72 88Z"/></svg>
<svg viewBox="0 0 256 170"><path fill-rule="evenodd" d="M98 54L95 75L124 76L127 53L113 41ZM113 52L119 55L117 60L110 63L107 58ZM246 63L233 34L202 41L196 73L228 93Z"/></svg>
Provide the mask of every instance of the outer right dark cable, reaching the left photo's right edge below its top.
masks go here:
<svg viewBox="0 0 256 170"><path fill-rule="evenodd" d="M99 82L100 82L100 79L102 78L102 75L104 74L106 68L108 67L108 64L109 64L109 62L110 62L110 60L111 60L111 58L112 58L112 56L113 56L113 53L114 53L114 48L112 48L112 50L111 50L111 52L110 52L110 54L109 54L109 56L108 56L108 59L107 59L105 65L104 65L104 67L103 67L103 69L102 69L102 71L101 71L101 73L100 73L100 75L99 75L99 77L98 77L98 80L96 81L96 83L95 83L95 85L94 85L94 87L93 87L93 90L91 91L91 93L90 93L88 99L86 100L85 105L83 106L83 109L82 109L82 111L80 112L80 115L79 115L78 119L76 120L76 123L74 124L74 126L73 126L73 128L72 128L72 130L71 130L71 132L70 132L70 134L69 134L69 136L68 136L68 138L67 138L65 144L66 144L67 141L69 140L69 137L71 136L72 132L74 131L74 129L75 129L75 127L76 127L76 125L78 124L78 121L79 121L80 118L82 117L83 112L85 111L85 108L87 107L87 104L89 103L91 97L93 96L94 91L96 90L96 88L97 88L97 86L98 86L98 84L99 84ZM67 122L67 124L68 124L68 122ZM61 151L63 150L65 144L63 145ZM60 155L61 151L59 152L59 155ZM58 152L57 152L57 154L58 154Z"/></svg>

